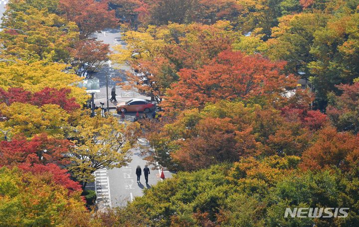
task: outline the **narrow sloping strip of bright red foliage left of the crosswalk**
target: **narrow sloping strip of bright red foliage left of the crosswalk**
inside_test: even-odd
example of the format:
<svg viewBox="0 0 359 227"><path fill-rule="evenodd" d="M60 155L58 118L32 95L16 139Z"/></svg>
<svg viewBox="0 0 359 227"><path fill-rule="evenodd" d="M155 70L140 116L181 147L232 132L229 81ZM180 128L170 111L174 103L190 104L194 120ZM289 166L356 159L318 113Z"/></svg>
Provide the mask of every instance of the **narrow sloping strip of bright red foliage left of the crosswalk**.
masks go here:
<svg viewBox="0 0 359 227"><path fill-rule="evenodd" d="M72 181L70 179L70 174L67 173L67 170L61 169L55 164L29 164L23 163L18 165L23 171L31 172L35 175L41 175L42 177L50 178L55 184L61 185L69 190L69 192L80 191L81 186L78 182Z"/></svg>

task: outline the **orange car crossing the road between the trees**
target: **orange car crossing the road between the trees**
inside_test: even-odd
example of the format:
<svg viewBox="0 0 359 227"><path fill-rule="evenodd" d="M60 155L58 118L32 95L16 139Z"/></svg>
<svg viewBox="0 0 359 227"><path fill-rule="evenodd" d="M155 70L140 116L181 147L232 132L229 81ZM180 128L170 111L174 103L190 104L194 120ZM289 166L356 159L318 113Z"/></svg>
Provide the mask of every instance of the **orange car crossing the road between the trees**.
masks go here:
<svg viewBox="0 0 359 227"><path fill-rule="evenodd" d="M118 114L121 112L145 112L148 113L155 109L155 104L146 99L131 99L127 102L117 104L116 110Z"/></svg>

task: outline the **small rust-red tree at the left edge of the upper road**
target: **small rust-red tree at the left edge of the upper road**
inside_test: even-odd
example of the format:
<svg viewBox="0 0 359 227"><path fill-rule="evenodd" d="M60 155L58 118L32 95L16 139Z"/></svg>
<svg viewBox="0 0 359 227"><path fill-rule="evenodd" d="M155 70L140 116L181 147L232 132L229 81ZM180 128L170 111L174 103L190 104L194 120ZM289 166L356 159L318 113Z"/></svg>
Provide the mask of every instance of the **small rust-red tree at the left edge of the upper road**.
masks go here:
<svg viewBox="0 0 359 227"><path fill-rule="evenodd" d="M80 40L71 49L72 65L77 69L76 74L79 76L87 75L86 79L89 79L88 72L99 70L108 60L109 53L109 45L102 43L102 41Z"/></svg>

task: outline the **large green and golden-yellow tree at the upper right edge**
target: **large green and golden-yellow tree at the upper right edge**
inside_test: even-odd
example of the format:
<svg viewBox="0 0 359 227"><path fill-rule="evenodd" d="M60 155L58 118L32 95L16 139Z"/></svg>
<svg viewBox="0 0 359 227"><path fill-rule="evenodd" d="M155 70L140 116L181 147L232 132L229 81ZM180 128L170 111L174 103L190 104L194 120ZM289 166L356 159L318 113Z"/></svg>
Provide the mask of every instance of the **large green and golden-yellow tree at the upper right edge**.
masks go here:
<svg viewBox="0 0 359 227"><path fill-rule="evenodd" d="M267 41L267 54L272 59L288 61L287 68L296 74L304 74L314 85L316 105L324 110L327 95L341 83L352 83L358 75L357 46L358 13L334 16L330 13L300 13L286 15L272 28L273 39Z"/></svg>

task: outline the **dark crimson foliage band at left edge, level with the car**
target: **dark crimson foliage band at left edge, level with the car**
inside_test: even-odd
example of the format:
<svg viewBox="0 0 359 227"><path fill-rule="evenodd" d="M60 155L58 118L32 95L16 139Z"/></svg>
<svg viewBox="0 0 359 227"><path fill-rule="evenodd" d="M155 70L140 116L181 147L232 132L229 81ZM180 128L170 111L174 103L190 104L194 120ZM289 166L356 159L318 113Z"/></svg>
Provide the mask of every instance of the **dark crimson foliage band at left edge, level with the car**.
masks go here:
<svg viewBox="0 0 359 227"><path fill-rule="evenodd" d="M14 102L29 103L36 106L45 104L57 104L67 112L80 108L74 97L69 98L71 89L44 88L41 91L31 93L23 88L9 88L8 91L0 88L0 102L10 105Z"/></svg>

